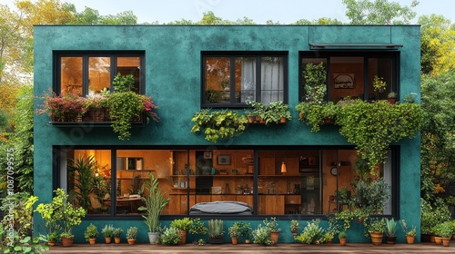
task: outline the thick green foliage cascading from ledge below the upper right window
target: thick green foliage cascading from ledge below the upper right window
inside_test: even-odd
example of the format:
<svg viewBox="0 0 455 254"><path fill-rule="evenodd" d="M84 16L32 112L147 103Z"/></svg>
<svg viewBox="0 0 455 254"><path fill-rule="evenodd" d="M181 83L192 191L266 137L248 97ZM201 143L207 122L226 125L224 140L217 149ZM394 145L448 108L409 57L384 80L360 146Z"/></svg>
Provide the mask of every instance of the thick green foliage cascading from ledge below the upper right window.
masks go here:
<svg viewBox="0 0 455 254"><path fill-rule="evenodd" d="M337 124L339 133L356 145L360 158L367 160L371 172L382 163L392 142L412 137L420 130L420 105L367 103L356 100L341 107Z"/></svg>

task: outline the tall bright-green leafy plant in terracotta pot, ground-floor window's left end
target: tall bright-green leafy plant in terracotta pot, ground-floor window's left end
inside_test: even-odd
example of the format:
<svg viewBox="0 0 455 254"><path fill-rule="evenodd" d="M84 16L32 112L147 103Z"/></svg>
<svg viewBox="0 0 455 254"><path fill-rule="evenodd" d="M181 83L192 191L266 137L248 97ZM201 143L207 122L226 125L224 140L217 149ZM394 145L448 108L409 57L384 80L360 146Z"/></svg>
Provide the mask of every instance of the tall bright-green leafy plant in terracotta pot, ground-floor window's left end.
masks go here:
<svg viewBox="0 0 455 254"><path fill-rule="evenodd" d="M68 195L63 189L54 190L56 197L52 199L54 203L54 214L62 225L63 232L60 234L63 246L73 245L73 229L82 223L82 218L86 216L86 210L76 207L68 201Z"/></svg>

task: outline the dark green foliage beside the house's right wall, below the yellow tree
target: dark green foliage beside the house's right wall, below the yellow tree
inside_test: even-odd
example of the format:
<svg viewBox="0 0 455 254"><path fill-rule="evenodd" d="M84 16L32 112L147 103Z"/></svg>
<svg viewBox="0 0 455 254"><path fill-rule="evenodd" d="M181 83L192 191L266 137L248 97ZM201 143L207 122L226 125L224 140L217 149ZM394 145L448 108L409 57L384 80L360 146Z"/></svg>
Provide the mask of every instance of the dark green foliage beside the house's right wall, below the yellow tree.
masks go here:
<svg viewBox="0 0 455 254"><path fill-rule="evenodd" d="M455 181L455 72L424 76L421 93L422 198L434 200L442 187Z"/></svg>

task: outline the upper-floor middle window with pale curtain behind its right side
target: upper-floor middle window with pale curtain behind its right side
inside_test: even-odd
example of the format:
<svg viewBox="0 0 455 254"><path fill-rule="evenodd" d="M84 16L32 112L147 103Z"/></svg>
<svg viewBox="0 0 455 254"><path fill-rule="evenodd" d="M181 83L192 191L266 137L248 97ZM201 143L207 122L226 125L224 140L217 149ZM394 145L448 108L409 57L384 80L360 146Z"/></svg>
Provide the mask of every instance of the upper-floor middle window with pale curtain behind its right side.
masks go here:
<svg viewBox="0 0 455 254"><path fill-rule="evenodd" d="M204 54L202 103L244 107L286 101L288 64L284 53Z"/></svg>

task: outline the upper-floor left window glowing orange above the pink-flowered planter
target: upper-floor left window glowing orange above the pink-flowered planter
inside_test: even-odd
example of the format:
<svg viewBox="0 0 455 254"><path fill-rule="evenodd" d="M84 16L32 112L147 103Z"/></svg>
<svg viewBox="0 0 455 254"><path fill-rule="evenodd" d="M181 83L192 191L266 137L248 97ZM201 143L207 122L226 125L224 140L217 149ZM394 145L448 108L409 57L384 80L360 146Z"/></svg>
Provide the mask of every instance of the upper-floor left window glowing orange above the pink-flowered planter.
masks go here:
<svg viewBox="0 0 455 254"><path fill-rule="evenodd" d="M143 93L142 53L58 53L56 93L76 91L80 96L113 91L116 73L135 77L134 91Z"/></svg>

